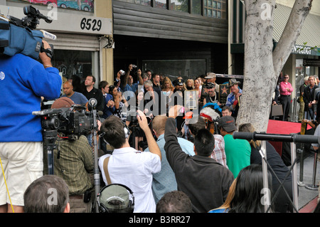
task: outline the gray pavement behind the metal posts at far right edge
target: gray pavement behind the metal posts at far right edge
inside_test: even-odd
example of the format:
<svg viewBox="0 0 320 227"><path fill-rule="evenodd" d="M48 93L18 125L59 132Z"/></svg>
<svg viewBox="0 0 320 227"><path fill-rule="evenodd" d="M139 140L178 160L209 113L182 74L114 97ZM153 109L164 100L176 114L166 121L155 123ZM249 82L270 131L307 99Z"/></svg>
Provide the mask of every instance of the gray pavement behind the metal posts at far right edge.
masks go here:
<svg viewBox="0 0 320 227"><path fill-rule="evenodd" d="M297 164L297 181L302 186L298 186L298 208L302 208L309 203L309 201L313 200L317 196L319 196L318 189L311 190L306 189L304 185L313 184L313 172L314 172L314 154L310 154L308 157L304 159L303 168L300 168L301 163L298 162ZM303 169L303 174L301 176L300 169ZM302 180L302 181L301 181ZM315 184L319 184L320 181L320 165L317 161L316 167L316 181Z"/></svg>

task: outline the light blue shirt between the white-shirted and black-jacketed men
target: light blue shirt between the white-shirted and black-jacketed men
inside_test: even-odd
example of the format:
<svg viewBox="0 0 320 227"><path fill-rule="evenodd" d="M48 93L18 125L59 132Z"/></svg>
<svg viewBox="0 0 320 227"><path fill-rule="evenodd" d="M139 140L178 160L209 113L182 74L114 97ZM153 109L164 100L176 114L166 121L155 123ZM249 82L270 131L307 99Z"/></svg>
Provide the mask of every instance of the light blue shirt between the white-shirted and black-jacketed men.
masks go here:
<svg viewBox="0 0 320 227"><path fill-rule="evenodd" d="M164 134L161 134L156 140L160 151L161 151L161 171L159 173L153 174L152 181L152 192L154 194L154 201L157 203L164 194L169 191L177 190L176 176L174 176L174 171L171 169L168 160L166 159L166 152L164 150ZM193 143L178 137L178 143L181 146L183 152L193 156L195 153L193 151ZM144 152L149 152L149 148L146 148Z"/></svg>

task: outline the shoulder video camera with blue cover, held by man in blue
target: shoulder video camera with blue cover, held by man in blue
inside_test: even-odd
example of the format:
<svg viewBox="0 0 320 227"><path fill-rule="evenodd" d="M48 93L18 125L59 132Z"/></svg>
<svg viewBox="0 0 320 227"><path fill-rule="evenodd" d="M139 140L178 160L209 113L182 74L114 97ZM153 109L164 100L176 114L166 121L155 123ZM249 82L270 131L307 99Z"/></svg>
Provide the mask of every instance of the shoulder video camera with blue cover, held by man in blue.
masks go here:
<svg viewBox="0 0 320 227"><path fill-rule="evenodd" d="M46 31L33 31L38 26L40 19L51 23L52 19L38 11L33 6L24 6L23 13L26 15L23 19L17 19L14 16L7 18L0 15L0 53L7 56L14 56L16 53L22 53L33 59L39 58L40 52L52 58L53 46L50 49L44 49L42 39L50 38L54 40L56 36Z"/></svg>

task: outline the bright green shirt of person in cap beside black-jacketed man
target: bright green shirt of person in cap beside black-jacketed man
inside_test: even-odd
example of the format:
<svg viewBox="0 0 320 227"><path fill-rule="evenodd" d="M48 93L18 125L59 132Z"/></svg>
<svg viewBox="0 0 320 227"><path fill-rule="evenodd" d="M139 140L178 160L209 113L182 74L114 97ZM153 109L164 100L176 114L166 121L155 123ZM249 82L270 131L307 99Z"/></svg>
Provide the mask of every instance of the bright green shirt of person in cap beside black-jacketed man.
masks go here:
<svg viewBox="0 0 320 227"><path fill-rule="evenodd" d="M241 169L250 165L250 143L245 139L233 139L232 134L226 134L223 139L227 166L236 178Z"/></svg>

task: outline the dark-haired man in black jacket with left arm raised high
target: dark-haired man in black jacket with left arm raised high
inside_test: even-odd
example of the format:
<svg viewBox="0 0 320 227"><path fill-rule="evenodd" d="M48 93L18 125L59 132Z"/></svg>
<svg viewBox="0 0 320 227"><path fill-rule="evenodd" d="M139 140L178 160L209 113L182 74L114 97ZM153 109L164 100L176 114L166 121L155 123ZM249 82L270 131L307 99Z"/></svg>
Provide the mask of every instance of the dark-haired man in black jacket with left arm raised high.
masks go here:
<svg viewBox="0 0 320 227"><path fill-rule="evenodd" d="M227 198L233 174L210 157L215 139L204 128L198 130L194 137L195 155L189 156L183 152L176 136L175 118L181 115L180 109L181 105L171 107L169 119L166 120L166 159L176 176L178 190L187 194L196 210L208 212L210 207L221 206Z"/></svg>

